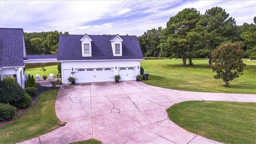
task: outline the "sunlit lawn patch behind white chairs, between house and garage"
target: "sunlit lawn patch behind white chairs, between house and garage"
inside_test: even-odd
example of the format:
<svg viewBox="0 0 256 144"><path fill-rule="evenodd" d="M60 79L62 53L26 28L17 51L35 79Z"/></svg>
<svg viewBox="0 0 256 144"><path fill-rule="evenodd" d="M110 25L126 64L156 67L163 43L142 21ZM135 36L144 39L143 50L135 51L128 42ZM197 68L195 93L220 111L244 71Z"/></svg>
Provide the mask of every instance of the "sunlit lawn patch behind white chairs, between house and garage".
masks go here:
<svg viewBox="0 0 256 144"><path fill-rule="evenodd" d="M50 73L52 73L54 75L54 78L57 77L58 74L58 68L57 65L54 66L46 66L46 71L45 71L45 75L49 76ZM44 72L40 70L41 67L39 68L28 68L26 69L26 73L33 75L34 77L36 76L36 74L39 74L41 77L44 75Z"/></svg>

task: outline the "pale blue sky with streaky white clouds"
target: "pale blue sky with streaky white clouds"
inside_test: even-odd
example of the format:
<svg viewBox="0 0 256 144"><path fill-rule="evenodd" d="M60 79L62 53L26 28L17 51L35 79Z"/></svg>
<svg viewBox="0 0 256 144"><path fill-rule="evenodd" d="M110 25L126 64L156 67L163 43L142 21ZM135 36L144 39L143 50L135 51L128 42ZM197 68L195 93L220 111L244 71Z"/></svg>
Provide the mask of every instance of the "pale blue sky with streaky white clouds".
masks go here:
<svg viewBox="0 0 256 144"><path fill-rule="evenodd" d="M0 27L26 32L69 31L69 34L140 36L166 27L185 8L202 14L219 6L237 25L252 23L256 1L0 1Z"/></svg>

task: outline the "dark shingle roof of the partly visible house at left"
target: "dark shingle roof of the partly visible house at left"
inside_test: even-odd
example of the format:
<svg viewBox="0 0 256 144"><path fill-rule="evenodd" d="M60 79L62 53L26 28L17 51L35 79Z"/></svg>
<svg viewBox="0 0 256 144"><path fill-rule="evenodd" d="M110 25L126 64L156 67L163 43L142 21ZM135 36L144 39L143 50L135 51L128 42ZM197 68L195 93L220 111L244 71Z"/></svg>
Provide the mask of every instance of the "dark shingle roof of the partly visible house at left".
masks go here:
<svg viewBox="0 0 256 144"><path fill-rule="evenodd" d="M23 29L0 28L0 68L24 66Z"/></svg>

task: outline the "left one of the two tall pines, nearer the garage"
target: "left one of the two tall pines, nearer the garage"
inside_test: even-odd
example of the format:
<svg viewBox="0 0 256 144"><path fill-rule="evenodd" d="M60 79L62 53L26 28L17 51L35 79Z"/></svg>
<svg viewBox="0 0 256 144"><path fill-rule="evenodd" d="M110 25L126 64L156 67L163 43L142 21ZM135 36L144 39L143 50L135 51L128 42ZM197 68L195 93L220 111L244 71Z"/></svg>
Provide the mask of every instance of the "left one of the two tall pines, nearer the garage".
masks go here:
<svg viewBox="0 0 256 144"><path fill-rule="evenodd" d="M181 57L183 66L187 66L187 58L191 58L194 49L194 44L190 41L192 37L188 34L196 30L196 23L200 17L199 11L193 8L184 9L171 17L161 33L162 40L159 44L161 54L170 55L171 58ZM170 54L166 54L166 52L170 52Z"/></svg>

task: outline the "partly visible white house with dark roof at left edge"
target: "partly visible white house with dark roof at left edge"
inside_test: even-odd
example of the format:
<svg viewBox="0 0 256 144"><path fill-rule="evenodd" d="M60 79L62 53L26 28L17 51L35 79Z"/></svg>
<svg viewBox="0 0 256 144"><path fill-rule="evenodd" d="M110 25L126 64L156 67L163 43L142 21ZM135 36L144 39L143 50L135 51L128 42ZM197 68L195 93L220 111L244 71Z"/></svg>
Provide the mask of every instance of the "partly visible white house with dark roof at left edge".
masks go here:
<svg viewBox="0 0 256 144"><path fill-rule="evenodd" d="M0 78L13 76L25 87L25 63L27 59L23 29L0 28Z"/></svg>

